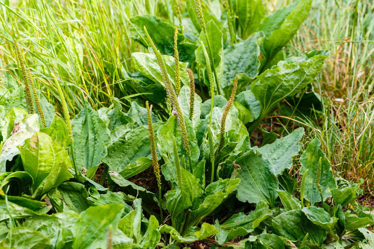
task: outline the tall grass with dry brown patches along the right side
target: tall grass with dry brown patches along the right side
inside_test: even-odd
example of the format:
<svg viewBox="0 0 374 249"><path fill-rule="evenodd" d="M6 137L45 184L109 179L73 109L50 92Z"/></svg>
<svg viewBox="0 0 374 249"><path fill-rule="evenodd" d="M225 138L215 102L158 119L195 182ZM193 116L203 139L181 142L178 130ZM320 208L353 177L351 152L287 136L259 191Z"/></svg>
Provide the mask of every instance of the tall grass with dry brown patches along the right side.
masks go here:
<svg viewBox="0 0 374 249"><path fill-rule="evenodd" d="M292 1L272 1L279 8ZM374 193L374 3L367 0L315 0L310 15L289 45L298 51L329 49L315 90L322 94L319 122L313 127L339 174L364 179L365 193ZM321 121L322 119L322 121Z"/></svg>

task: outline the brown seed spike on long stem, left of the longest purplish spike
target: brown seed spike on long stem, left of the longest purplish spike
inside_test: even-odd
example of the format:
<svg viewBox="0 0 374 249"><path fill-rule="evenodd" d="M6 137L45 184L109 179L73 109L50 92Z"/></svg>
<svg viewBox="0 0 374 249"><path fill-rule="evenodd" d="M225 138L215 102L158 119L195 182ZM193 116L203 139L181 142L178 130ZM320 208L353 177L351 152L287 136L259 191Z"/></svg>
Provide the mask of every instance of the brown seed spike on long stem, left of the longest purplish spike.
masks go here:
<svg viewBox="0 0 374 249"><path fill-rule="evenodd" d="M157 187L159 188L160 217L161 217L161 222L163 224L160 165L159 165L159 161L157 160L156 142L154 141L153 123L152 123L151 110L150 110L148 101L145 102L145 106L147 107L148 132L149 132L149 140L151 141L151 156L152 156L153 172L154 172L154 175L156 176Z"/></svg>

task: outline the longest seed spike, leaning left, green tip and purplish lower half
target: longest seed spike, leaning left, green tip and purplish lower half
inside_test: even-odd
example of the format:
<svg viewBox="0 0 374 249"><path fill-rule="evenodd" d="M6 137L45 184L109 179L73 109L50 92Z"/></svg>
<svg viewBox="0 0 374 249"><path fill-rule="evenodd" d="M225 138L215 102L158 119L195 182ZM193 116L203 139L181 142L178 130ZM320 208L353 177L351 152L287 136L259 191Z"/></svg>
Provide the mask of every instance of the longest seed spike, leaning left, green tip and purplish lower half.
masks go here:
<svg viewBox="0 0 374 249"><path fill-rule="evenodd" d="M184 116L178 103L177 94L175 93L172 83L169 80L168 72L166 71L165 62L162 59L160 51L156 48L156 45L154 45L152 38L148 34L147 28L145 28L145 26L143 28L144 28L145 35L147 36L147 39L149 43L151 44L151 47L156 55L157 62L159 63L162 81L165 84L166 95L168 96L171 106L174 109L173 114L177 118L178 128L181 131L183 147L186 150L186 153L188 156L188 162L190 164L190 172L193 173L192 160L191 160L191 147L188 141L186 122L184 121Z"/></svg>

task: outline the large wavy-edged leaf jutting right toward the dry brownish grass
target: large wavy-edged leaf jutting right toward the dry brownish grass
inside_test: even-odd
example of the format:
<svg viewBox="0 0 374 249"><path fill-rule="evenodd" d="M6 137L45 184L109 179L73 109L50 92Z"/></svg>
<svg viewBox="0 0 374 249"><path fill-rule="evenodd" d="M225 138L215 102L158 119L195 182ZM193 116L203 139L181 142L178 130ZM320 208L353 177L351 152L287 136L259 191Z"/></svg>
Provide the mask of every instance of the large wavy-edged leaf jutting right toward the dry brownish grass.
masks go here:
<svg viewBox="0 0 374 249"><path fill-rule="evenodd" d="M265 116L272 111L285 97L294 96L306 87L321 71L329 53L326 50L309 52L307 53L309 59L303 62L289 64L280 62L276 68L267 69L258 75L251 84L251 91L260 101L260 116Z"/></svg>

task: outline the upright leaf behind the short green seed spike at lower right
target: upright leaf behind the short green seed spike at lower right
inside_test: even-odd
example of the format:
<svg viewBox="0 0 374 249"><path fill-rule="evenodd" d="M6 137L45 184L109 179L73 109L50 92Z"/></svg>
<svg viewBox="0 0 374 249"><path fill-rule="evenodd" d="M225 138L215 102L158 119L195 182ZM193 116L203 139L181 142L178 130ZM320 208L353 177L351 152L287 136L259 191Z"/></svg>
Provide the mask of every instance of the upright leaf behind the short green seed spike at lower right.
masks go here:
<svg viewBox="0 0 374 249"><path fill-rule="evenodd" d="M304 174L304 172L309 169L305 179L306 184L304 198L312 204L321 201L319 190L315 184L317 165L320 157L322 157L320 184L324 200L331 197L331 189L337 188L334 175L331 171L331 165L328 162L325 153L319 148L320 145L321 142L318 140L318 138L314 138L312 141L310 141L308 147L300 156L300 164L302 165L300 174Z"/></svg>

